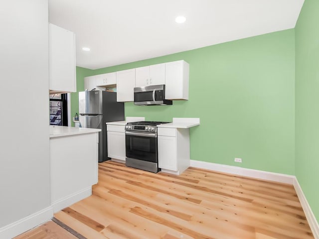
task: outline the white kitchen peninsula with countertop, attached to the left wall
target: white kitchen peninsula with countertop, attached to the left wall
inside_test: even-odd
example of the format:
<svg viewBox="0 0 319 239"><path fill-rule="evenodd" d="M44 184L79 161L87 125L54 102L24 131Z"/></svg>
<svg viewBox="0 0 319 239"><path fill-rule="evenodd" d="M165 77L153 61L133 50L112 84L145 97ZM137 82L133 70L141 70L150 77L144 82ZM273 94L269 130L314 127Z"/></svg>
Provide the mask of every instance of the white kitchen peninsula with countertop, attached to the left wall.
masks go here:
<svg viewBox="0 0 319 239"><path fill-rule="evenodd" d="M50 125L51 205L57 212L92 194L101 129Z"/></svg>

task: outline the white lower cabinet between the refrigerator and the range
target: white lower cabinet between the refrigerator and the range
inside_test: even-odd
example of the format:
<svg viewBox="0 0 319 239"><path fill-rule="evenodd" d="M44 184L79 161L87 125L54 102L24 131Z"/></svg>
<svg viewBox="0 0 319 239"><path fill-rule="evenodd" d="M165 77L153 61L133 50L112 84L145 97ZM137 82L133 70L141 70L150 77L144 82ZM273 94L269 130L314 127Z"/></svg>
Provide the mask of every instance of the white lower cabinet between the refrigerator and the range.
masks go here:
<svg viewBox="0 0 319 239"><path fill-rule="evenodd" d="M107 125L108 157L125 161L124 125Z"/></svg>

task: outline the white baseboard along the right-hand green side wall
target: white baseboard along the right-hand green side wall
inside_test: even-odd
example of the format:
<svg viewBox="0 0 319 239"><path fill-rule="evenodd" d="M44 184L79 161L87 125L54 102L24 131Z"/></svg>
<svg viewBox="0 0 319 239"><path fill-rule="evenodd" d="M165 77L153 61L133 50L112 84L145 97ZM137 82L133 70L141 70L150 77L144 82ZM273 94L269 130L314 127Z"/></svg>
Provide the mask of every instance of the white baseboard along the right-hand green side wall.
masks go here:
<svg viewBox="0 0 319 239"><path fill-rule="evenodd" d="M308 224L313 232L313 235L314 235L315 239L319 239L319 224L317 222L317 219L316 219L313 211L311 210L311 207L306 199L306 196L305 196L297 178L295 178L294 187L295 187L295 190L297 192L301 206L304 209Z"/></svg>

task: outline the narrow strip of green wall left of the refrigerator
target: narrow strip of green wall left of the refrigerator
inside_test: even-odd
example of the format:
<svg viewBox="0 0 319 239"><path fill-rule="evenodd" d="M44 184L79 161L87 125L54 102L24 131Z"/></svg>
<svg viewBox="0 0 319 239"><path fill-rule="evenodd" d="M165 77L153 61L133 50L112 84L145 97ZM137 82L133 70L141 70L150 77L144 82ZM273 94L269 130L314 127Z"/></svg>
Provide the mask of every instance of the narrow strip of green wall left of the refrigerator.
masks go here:
<svg viewBox="0 0 319 239"><path fill-rule="evenodd" d="M76 90L77 92L71 93L71 126L74 126L73 117L75 113L79 114L79 93L84 91L84 77L95 75L93 70L83 67L76 67Z"/></svg>

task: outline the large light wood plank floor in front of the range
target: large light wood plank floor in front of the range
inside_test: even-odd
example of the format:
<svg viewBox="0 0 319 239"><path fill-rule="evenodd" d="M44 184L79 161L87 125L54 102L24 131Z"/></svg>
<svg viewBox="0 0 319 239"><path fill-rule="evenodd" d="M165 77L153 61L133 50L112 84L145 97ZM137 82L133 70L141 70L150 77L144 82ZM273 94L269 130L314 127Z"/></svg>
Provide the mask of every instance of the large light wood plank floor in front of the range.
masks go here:
<svg viewBox="0 0 319 239"><path fill-rule="evenodd" d="M314 239L292 185L192 167L100 163L93 195L55 217L88 239Z"/></svg>

